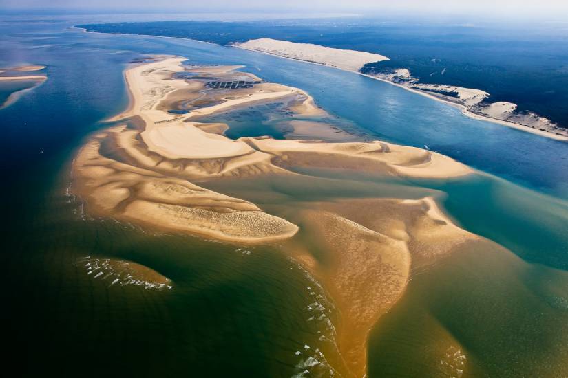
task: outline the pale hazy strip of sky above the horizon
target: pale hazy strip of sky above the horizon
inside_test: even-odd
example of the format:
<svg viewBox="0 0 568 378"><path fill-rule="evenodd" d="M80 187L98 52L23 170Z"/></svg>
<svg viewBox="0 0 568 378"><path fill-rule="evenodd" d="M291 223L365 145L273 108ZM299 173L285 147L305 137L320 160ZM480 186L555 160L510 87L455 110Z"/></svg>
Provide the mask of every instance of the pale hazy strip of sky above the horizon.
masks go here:
<svg viewBox="0 0 568 378"><path fill-rule="evenodd" d="M0 0L0 9L10 8L72 8L92 10L118 8L132 10L313 10L335 12L412 11L426 13L488 14L550 14L568 19L567 0Z"/></svg>

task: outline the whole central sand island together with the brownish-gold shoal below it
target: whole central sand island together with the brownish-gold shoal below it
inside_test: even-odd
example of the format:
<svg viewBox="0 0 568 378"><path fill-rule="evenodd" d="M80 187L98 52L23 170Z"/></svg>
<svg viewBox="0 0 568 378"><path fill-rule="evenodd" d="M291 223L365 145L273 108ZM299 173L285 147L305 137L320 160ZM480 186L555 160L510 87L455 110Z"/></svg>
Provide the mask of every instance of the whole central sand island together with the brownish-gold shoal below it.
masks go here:
<svg viewBox="0 0 568 378"><path fill-rule="evenodd" d="M433 197L338 198L268 210L206 187L309 177L295 168L430 179L472 169L432 151L337 132L308 93L238 71L243 67L184 61L154 56L125 71L129 108L78 152L73 191L94 216L229 243L284 245L284 253L322 282L341 317L325 339L330 347L306 355L306 368L325 360L344 377L364 377L368 333L401 297L410 268L485 241L454 225ZM228 124L200 122L275 102L297 118L287 134L295 139L231 140L224 135ZM276 195L267 186L255 190L254 198ZM315 245L326 251L325 261L313 254ZM316 320L329 322L323 311Z"/></svg>

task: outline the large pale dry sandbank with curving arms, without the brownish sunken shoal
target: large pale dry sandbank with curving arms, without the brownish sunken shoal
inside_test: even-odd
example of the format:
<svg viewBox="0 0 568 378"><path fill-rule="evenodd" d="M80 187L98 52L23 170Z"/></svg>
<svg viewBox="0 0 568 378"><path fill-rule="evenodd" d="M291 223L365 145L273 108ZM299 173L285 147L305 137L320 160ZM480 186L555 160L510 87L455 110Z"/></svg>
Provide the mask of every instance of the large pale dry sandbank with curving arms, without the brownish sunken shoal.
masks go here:
<svg viewBox="0 0 568 378"><path fill-rule="evenodd" d="M84 177L83 180L78 180L83 184L79 185L78 191L98 203L98 210L101 213L109 212L112 216L159 225L165 229L186 230L224 240L231 238L235 241L275 240L292 236L297 231L297 226L264 214L258 208L250 208L246 214L227 216L227 213L235 211L235 208L226 205L227 201L224 199L223 210L211 214L211 203L221 201L213 194L204 200L203 206L200 206L199 201L193 201L199 197L192 196L186 199L191 205L185 207L180 207L182 205L180 203L173 204L165 197L154 198L152 203L141 201L140 191L133 190L133 186L143 185L145 181L152 181L153 185L158 185L154 182L156 178L148 173L143 175L136 173L134 179L132 177L135 173L128 164L134 164L137 169L148 170L162 177L190 180L246 177L266 173L294 175L286 170L286 166L294 164L374 170L389 175L411 177L459 177L472 173L467 166L438 153L378 141L331 143L321 140L308 142L249 137L230 140L219 132L218 125L214 125L213 129L209 130L205 126L207 124L195 122L193 119L235 107L250 106L259 101L274 101L291 96L296 102L295 111L306 117L313 114L313 100L299 89L275 83L263 82L254 87L230 91L214 91L204 89L200 85L191 85L194 80L172 77L185 70L182 66L184 60L180 57L163 56L127 69L125 78L132 101L129 108L113 120L136 116L142 124L140 130L125 126L109 129L102 136L94 137L92 144L85 147L76 159L76 170L81 173L79 177ZM191 67L190 69L199 72L207 79L207 74L229 74L235 67L215 66L210 69ZM200 69L202 71L199 71ZM242 75L242 73L235 74ZM169 103L169 96L175 96L175 93L180 91L187 92L188 87L199 93L207 92L207 96L210 96L209 92L217 93L211 97L220 103L182 115L168 113L165 109ZM308 105L304 106L303 103ZM298 122L300 123L295 124L296 127L303 126L305 129L310 126L305 120ZM322 132L322 139L326 137L329 139L330 136L337 134L346 136L344 133L338 133L337 128L334 129L325 123L318 124L317 129ZM317 133L313 133L311 137L317 137ZM105 148L120 151L121 158L118 162L105 155L103 151ZM90 174L108 168L118 170L119 177L128 179L118 179L116 175L103 175L94 179ZM112 188L107 185L111 177L114 180ZM118 181L123 181L123 184L118 185ZM96 185L93 185L95 182ZM183 184L182 187L187 188L187 184ZM202 188L191 190L199 191ZM240 203L238 199L231 201ZM213 226L215 222L227 227L227 231L216 232ZM257 228L264 230L265 235L256 228L255 230L250 228L255 222L260 224ZM188 225L189 223L193 225ZM240 230L237 223L241 225ZM247 227L249 227L248 232L245 231Z"/></svg>

